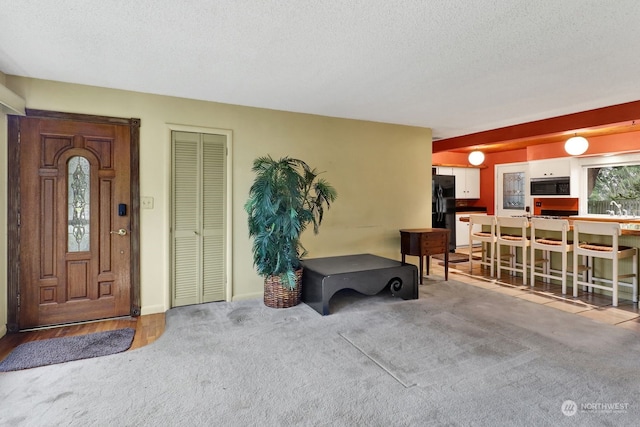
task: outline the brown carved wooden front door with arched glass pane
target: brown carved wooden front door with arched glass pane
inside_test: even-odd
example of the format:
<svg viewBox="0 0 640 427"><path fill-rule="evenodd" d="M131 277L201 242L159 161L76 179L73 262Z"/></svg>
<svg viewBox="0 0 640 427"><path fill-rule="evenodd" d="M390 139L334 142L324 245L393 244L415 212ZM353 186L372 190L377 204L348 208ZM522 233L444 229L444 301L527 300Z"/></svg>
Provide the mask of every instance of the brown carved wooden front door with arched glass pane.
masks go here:
<svg viewBox="0 0 640 427"><path fill-rule="evenodd" d="M19 118L19 329L139 314L131 134L123 124Z"/></svg>

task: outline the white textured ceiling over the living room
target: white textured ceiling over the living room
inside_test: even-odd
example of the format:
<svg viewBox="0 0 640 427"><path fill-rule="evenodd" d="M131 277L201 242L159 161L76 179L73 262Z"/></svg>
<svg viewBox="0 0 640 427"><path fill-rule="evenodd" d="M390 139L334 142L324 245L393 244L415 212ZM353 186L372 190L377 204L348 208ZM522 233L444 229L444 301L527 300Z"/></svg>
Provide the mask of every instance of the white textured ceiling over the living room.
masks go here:
<svg viewBox="0 0 640 427"><path fill-rule="evenodd" d="M640 2L0 0L0 71L448 138L640 100Z"/></svg>

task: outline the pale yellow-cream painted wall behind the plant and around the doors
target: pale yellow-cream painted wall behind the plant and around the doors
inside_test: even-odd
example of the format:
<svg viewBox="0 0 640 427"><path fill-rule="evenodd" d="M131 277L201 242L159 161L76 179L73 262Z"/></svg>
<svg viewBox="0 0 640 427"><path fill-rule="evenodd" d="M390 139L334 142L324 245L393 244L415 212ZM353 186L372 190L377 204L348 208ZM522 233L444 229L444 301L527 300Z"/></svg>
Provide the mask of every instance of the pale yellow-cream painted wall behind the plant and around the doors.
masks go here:
<svg viewBox="0 0 640 427"><path fill-rule="evenodd" d="M252 265L243 209L253 179L251 164L259 155L301 158L326 171L324 177L338 191L338 199L327 212L320 234L314 236L309 231L303 236L309 257L366 252L399 259L398 229L426 227L431 223L430 129L16 76L7 76L6 85L26 100L27 108L141 119L140 192L142 196L153 197L155 202L154 209L141 210L140 218L143 314L170 308L169 124L233 132L230 165L233 299L262 296L262 278ZM6 129L2 138L6 139ZM6 152L6 142L3 149ZM4 203L5 187L1 191ZM5 260L2 257L0 261L1 271L6 268ZM0 281L0 298L6 295L4 282ZM6 310L6 303L2 309Z"/></svg>

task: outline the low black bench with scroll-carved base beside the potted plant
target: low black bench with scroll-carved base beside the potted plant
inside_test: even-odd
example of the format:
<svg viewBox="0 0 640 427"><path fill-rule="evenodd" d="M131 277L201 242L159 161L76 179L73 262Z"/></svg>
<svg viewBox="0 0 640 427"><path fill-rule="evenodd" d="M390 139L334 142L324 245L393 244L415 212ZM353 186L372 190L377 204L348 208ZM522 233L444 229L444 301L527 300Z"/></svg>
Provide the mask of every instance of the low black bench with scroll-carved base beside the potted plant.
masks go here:
<svg viewBox="0 0 640 427"><path fill-rule="evenodd" d="M391 295L418 298L418 267L371 254L302 260L302 301L324 315L342 289L375 295L389 286Z"/></svg>

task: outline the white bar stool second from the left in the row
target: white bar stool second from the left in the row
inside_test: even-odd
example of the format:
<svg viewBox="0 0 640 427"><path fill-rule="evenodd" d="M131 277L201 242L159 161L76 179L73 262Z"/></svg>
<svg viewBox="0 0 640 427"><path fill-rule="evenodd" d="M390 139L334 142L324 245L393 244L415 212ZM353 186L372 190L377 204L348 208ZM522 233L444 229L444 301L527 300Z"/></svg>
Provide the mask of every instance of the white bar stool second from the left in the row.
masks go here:
<svg viewBox="0 0 640 427"><path fill-rule="evenodd" d="M505 233L505 228L519 228L520 234ZM529 228L529 220L526 217L499 216L496 218L498 279L500 279L500 271L507 270L512 276L521 273L523 284L527 284L527 248L530 246L527 228ZM506 255L508 266L503 265L502 246L509 248L509 253ZM522 253L521 263L517 261L518 248Z"/></svg>

